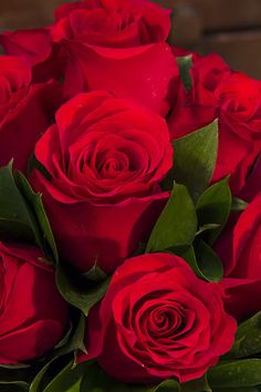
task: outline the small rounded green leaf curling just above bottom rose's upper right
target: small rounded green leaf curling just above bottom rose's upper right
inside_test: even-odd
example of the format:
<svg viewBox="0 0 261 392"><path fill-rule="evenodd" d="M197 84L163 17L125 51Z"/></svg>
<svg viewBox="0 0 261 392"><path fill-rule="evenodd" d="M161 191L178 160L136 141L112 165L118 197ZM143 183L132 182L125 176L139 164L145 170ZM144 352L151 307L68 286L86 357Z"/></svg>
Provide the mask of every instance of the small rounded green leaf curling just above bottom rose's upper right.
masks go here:
<svg viewBox="0 0 261 392"><path fill-rule="evenodd" d="M195 244L197 265L205 279L219 282L223 277L223 265L213 249L203 240Z"/></svg>

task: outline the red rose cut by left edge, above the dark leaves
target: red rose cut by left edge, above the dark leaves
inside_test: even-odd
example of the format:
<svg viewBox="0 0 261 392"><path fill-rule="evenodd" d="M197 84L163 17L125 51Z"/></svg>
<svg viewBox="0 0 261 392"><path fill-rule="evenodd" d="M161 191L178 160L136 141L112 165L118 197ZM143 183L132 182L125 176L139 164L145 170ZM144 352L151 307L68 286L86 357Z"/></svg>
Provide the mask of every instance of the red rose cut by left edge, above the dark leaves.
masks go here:
<svg viewBox="0 0 261 392"><path fill-rule="evenodd" d="M24 60L1 56L0 61L0 166L14 158L27 171L28 158L50 124L59 101L56 83L31 85L31 70Z"/></svg>

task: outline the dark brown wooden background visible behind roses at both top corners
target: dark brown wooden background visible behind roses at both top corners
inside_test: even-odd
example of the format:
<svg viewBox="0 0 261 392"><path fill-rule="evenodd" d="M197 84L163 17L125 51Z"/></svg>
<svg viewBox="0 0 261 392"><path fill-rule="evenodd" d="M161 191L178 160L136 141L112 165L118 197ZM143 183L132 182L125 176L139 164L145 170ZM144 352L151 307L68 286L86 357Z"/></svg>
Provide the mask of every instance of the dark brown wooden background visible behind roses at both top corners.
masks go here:
<svg viewBox="0 0 261 392"><path fill-rule="evenodd" d="M174 9L173 43L217 52L237 70L261 79L261 0L155 0ZM0 0L0 30L52 22L64 0Z"/></svg>

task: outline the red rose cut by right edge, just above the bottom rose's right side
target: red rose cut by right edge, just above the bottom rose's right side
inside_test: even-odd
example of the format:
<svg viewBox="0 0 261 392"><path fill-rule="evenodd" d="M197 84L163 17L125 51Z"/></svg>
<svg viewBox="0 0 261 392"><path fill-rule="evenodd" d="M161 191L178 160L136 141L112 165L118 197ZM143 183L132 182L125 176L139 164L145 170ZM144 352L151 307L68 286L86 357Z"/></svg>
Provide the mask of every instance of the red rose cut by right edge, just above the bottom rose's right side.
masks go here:
<svg viewBox="0 0 261 392"><path fill-rule="evenodd" d="M228 307L238 318L261 310L261 194L220 236L216 250L228 279Z"/></svg>

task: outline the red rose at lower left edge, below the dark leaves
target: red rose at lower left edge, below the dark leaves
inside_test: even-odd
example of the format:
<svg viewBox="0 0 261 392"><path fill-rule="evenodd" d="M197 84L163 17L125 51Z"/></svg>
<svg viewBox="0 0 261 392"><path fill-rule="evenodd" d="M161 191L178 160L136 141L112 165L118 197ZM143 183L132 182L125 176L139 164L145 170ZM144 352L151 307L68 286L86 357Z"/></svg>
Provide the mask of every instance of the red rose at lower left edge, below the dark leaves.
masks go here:
<svg viewBox="0 0 261 392"><path fill-rule="evenodd" d="M67 305L41 257L35 248L0 243L1 364L39 358L65 333Z"/></svg>

